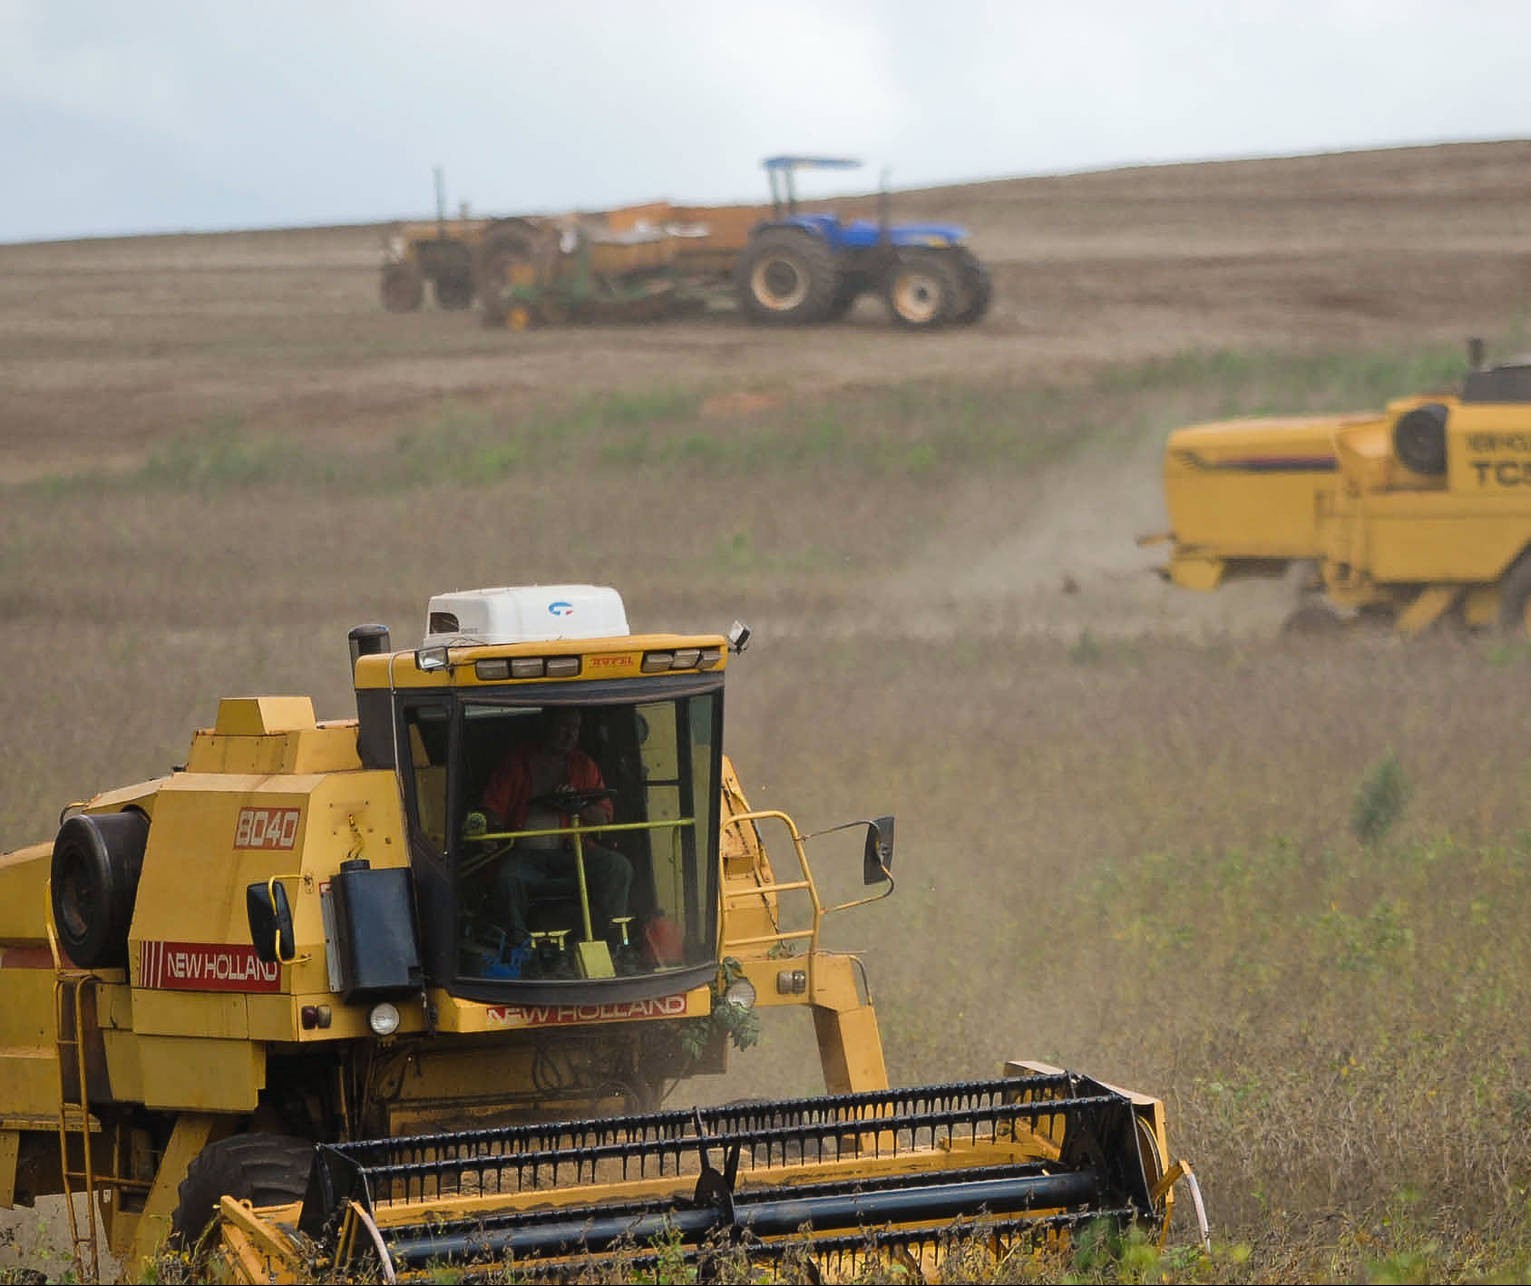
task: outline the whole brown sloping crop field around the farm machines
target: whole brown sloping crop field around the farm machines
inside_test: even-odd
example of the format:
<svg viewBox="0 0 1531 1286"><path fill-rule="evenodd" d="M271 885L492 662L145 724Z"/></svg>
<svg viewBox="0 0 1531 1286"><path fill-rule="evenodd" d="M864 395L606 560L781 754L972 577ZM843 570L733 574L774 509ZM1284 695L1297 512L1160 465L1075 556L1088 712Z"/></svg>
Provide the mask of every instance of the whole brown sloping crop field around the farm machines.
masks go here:
<svg viewBox="0 0 1531 1286"><path fill-rule="evenodd" d="M1162 1095L1200 1174L1211 1255L1180 1217L1165 1257L1000 1275L1523 1280L1531 651L1281 638L1280 586L1176 592L1133 537L1176 424L1523 343L1531 144L899 211L972 227L984 325L485 332L384 314L377 228L0 246L0 848L178 762L220 694L349 713L344 631L407 643L438 589L741 617L752 802L899 814L897 894L836 931L894 1076L1078 1067ZM813 1067L767 1023L698 1092Z"/></svg>

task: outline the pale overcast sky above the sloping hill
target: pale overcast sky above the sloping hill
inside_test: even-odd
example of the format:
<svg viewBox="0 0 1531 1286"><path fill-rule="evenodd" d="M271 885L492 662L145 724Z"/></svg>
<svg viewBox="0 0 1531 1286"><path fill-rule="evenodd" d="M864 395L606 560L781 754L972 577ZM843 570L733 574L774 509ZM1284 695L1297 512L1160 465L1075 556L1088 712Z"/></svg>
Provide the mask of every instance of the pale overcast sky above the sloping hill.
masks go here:
<svg viewBox="0 0 1531 1286"><path fill-rule="evenodd" d="M0 240L1531 136L1531 0L0 0Z"/></svg>

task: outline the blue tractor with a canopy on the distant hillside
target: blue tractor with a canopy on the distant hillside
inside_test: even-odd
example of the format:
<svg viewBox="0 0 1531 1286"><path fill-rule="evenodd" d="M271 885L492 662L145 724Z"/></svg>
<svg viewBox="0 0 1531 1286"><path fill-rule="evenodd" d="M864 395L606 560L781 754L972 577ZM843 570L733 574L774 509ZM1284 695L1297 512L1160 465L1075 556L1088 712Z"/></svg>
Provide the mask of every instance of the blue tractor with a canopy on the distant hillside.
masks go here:
<svg viewBox="0 0 1531 1286"><path fill-rule="evenodd" d="M772 217L750 231L733 269L744 315L773 325L839 322L860 295L882 295L894 323L929 331L989 311L989 271L952 224L888 222L888 190L871 219L798 208L798 170L850 170L837 156L772 156Z"/></svg>

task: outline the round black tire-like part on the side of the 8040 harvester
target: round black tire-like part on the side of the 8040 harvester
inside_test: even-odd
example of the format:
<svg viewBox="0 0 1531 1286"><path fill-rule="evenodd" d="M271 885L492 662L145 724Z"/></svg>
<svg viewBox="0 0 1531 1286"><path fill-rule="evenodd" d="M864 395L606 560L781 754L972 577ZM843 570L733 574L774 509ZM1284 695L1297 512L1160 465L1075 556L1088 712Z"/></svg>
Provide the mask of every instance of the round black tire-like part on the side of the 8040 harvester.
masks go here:
<svg viewBox="0 0 1531 1286"><path fill-rule="evenodd" d="M64 954L83 969L127 963L149 819L136 811L77 813L54 839L51 894Z"/></svg>

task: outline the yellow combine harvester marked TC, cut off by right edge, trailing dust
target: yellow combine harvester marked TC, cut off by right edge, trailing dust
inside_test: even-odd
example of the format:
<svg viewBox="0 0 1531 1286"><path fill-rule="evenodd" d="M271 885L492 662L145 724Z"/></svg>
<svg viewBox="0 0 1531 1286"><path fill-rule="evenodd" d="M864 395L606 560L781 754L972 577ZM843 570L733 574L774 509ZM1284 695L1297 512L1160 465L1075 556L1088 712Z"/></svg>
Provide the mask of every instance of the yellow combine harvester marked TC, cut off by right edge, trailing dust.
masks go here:
<svg viewBox="0 0 1531 1286"><path fill-rule="evenodd" d="M1459 390L1382 412L1232 419L1165 444L1165 576L1216 589L1311 563L1309 586L1402 634L1454 614L1531 626L1531 363L1484 367ZM1300 609L1301 620L1337 622Z"/></svg>

